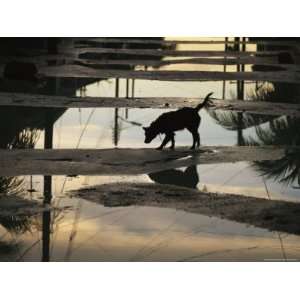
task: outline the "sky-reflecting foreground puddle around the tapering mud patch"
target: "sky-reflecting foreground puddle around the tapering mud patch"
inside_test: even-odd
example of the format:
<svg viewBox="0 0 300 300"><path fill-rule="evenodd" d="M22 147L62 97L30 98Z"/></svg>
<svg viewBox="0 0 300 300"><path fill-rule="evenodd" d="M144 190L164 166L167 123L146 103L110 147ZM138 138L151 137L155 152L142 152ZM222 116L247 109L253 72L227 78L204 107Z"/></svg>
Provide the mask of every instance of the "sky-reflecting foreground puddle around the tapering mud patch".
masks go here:
<svg viewBox="0 0 300 300"><path fill-rule="evenodd" d="M300 240L297 234L269 231L230 221L226 217L222 219L182 209L128 206L123 194L119 197L125 200L125 205L115 207L95 204L84 197L69 194L70 191L81 188L93 190L99 184L112 183L160 182L179 186L178 177L181 178L181 186L208 193L253 196L263 198L263 201L268 201L266 199L270 197L272 200L299 202L299 190L274 180L266 180L264 184L249 163L200 165L190 170L170 170L160 175L53 176L51 204L71 209L49 212L48 219L45 213L35 215L34 219L29 218L30 222L25 223L27 227L22 231L8 230L5 227L7 224L0 220L1 241L18 245L18 251L9 255L5 252L1 260L299 259ZM45 202L45 188L47 182L45 183L44 176L24 178L22 190L29 199L31 197L39 203ZM28 190L35 192L27 192ZM101 200L101 194L99 197ZM182 202L184 201L183 197ZM16 226L15 223L12 224ZM48 231L43 227L45 224ZM50 239L48 246L42 243L43 235L48 235Z"/></svg>

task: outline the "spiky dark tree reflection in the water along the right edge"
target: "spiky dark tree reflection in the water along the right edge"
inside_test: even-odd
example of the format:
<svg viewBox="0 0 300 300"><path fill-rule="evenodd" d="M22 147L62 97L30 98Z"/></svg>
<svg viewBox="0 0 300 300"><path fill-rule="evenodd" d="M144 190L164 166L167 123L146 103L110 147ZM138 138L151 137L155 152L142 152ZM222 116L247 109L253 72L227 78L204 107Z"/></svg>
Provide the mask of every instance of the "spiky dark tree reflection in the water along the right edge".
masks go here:
<svg viewBox="0 0 300 300"><path fill-rule="evenodd" d="M294 102L298 88L286 83L263 83L249 94L249 101ZM255 169L266 178L291 185L295 181L300 186L300 119L294 117L239 114L232 111L208 110L217 124L227 130L237 132L254 127L256 137L238 138L238 145L247 146L287 146L282 159L255 162ZM262 127L261 125L269 125Z"/></svg>

